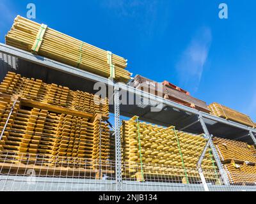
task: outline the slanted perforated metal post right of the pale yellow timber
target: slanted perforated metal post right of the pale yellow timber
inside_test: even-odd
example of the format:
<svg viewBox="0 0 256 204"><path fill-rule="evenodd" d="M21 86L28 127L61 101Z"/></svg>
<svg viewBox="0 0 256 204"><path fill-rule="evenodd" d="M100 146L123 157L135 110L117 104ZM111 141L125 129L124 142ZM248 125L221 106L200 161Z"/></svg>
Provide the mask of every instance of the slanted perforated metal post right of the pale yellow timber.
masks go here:
<svg viewBox="0 0 256 204"><path fill-rule="evenodd" d="M205 136L207 136L207 138L210 138L211 136L210 136L210 133L209 133L209 131L208 131L206 125L205 125L204 118L202 117L201 114L198 116L198 118L199 118L199 121L201 123L202 128L204 129ZM223 169L222 163L220 161L220 157L218 155L218 152L215 149L215 146L214 146L212 140L209 140L209 145L210 145L210 147L212 149L212 154L213 154L214 159L215 159L215 161L217 163L217 166L218 166L218 168L220 170L220 175L221 175L221 179L223 180L223 184L229 185L227 173Z"/></svg>

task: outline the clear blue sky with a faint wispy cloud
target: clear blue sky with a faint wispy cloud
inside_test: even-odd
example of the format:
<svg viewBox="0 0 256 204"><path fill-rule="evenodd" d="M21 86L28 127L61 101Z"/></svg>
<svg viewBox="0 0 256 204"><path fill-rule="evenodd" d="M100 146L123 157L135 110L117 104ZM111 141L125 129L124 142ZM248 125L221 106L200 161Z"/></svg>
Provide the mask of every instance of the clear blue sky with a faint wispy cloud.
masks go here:
<svg viewBox="0 0 256 204"><path fill-rule="evenodd" d="M125 57L134 75L168 80L256 121L255 0L0 0L2 43L28 3L36 22ZM218 17L220 3L228 19Z"/></svg>

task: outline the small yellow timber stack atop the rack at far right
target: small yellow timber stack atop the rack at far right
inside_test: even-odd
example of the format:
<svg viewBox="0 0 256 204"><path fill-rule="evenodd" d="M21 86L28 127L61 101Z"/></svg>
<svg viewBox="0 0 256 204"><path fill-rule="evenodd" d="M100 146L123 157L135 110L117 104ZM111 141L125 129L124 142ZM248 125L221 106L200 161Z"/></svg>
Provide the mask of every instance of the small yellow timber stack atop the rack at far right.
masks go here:
<svg viewBox="0 0 256 204"><path fill-rule="evenodd" d="M228 108L227 106L220 105L219 103L212 103L209 105L209 109L211 110L211 115L232 120L234 122L239 122L240 124L244 124L249 127L255 127L255 124L248 115L239 113L236 110Z"/></svg>

